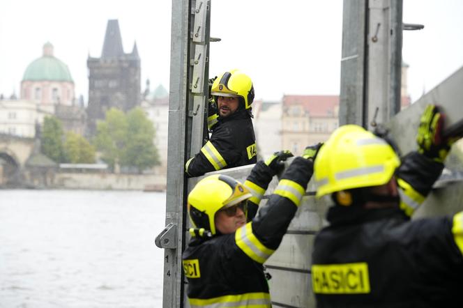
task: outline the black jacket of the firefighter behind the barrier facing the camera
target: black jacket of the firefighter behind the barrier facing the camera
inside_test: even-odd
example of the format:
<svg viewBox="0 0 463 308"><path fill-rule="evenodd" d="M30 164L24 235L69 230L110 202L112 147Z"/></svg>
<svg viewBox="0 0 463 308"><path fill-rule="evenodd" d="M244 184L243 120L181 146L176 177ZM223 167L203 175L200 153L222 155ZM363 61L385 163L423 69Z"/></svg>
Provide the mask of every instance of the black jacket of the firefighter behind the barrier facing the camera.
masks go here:
<svg viewBox="0 0 463 308"><path fill-rule="evenodd" d="M256 138L250 111L240 109L225 118L217 118L211 139L186 162L185 171L187 176L202 176L209 171L256 162Z"/></svg>

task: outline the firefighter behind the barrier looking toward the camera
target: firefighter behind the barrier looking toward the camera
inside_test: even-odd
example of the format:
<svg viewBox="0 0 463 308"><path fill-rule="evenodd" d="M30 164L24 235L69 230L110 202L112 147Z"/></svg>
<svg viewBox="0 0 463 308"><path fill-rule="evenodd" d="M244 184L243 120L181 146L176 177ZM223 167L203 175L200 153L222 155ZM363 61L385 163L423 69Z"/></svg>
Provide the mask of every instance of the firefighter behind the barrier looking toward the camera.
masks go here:
<svg viewBox="0 0 463 308"><path fill-rule="evenodd" d="M255 164L257 148L252 127L251 105L254 86L240 70L224 72L211 80L211 95L216 113L209 108L208 128L211 138L201 151L185 164L186 176Z"/></svg>

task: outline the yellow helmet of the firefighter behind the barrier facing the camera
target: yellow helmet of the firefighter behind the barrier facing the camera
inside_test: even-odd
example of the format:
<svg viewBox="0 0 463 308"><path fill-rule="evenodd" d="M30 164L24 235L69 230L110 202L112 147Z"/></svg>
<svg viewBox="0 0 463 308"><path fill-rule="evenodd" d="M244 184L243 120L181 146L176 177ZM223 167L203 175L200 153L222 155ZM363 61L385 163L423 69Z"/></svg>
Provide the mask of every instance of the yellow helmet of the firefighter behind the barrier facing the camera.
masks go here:
<svg viewBox="0 0 463 308"><path fill-rule="evenodd" d="M222 73L214 80L211 95L242 98L245 109L250 109L254 100L254 86L252 86L250 77L241 70L230 70ZM217 102L217 98L215 98L215 102Z"/></svg>

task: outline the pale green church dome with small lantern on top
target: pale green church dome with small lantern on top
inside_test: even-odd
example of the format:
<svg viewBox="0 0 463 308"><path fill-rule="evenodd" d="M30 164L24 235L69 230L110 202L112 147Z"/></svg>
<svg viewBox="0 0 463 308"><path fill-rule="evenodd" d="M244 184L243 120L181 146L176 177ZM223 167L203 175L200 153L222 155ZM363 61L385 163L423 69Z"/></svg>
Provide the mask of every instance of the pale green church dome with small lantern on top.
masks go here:
<svg viewBox="0 0 463 308"><path fill-rule="evenodd" d="M73 82L68 66L53 56L53 45L43 45L43 56L27 66L22 81Z"/></svg>

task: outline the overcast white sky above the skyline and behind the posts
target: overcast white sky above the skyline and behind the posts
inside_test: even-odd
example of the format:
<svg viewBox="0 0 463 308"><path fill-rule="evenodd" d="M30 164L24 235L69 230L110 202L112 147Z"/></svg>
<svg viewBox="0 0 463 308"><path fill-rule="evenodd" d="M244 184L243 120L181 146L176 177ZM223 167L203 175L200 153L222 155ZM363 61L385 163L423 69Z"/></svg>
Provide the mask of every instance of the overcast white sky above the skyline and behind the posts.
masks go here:
<svg viewBox="0 0 463 308"><path fill-rule="evenodd" d="M142 89L169 87L171 1L0 1L0 93L19 94L24 70L42 56L44 43L68 64L76 95L88 96L86 59L99 57L107 20L118 19L125 52L137 41ZM283 94L339 94L341 0L212 0L210 75L241 68L256 98ZM404 0L403 60L416 100L463 66L463 1Z"/></svg>

